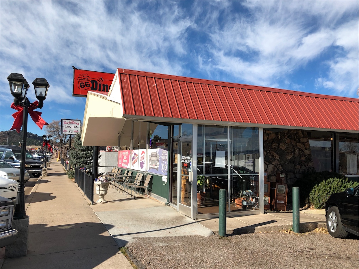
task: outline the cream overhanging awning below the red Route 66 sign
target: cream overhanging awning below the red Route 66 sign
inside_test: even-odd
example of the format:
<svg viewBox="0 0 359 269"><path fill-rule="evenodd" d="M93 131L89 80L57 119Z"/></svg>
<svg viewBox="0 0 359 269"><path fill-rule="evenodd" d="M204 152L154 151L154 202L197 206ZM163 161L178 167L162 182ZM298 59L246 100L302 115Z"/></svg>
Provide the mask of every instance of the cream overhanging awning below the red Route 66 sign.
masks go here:
<svg viewBox="0 0 359 269"><path fill-rule="evenodd" d="M81 140L83 146L117 146L126 119L122 104L107 100L106 95L88 92Z"/></svg>

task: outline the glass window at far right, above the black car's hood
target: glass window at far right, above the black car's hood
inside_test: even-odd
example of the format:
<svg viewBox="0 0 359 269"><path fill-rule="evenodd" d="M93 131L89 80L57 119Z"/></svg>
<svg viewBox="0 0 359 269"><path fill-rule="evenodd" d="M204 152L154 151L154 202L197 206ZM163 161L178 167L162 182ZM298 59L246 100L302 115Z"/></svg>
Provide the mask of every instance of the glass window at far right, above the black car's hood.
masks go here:
<svg viewBox="0 0 359 269"><path fill-rule="evenodd" d="M358 135L339 135L339 173L343 175L359 175L358 170Z"/></svg>

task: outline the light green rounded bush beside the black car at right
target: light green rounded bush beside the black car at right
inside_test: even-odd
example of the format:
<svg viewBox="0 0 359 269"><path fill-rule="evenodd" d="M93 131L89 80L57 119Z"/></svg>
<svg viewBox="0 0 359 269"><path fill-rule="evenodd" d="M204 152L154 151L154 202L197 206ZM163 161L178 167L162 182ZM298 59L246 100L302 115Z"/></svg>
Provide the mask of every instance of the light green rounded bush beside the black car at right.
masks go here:
<svg viewBox="0 0 359 269"><path fill-rule="evenodd" d="M348 178L330 178L323 180L315 185L309 193L309 202L315 209L325 208L325 202L332 193L344 192L348 188L353 188L358 182L352 182Z"/></svg>

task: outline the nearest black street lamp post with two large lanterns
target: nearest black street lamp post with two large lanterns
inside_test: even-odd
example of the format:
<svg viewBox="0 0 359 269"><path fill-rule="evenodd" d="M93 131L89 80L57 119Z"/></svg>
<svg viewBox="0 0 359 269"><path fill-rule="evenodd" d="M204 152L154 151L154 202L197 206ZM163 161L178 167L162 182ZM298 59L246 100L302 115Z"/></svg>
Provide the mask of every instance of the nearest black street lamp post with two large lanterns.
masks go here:
<svg viewBox="0 0 359 269"><path fill-rule="evenodd" d="M26 141L27 141L27 116L28 109L32 107L43 107L43 100L46 99L47 89L50 85L46 79L36 78L32 84L34 85L36 99L39 100L38 105L30 103L26 97L27 90L30 85L24 79L22 74L11 73L8 78L11 95L14 96L14 104L23 107L23 137L21 142L21 162L20 162L20 178L18 193L15 204L14 219L23 220L26 217L25 211L25 160L26 160Z"/></svg>

